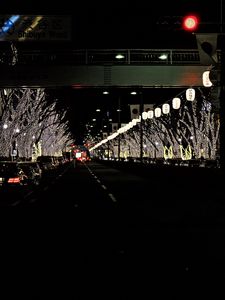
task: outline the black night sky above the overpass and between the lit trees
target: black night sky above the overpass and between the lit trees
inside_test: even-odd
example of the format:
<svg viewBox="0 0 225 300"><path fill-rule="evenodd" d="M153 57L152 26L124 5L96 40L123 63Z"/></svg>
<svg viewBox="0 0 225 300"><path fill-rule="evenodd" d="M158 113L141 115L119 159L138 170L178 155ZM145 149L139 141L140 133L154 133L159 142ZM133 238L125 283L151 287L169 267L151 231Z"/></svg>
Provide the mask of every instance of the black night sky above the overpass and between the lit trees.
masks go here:
<svg viewBox="0 0 225 300"><path fill-rule="evenodd" d="M199 30L204 32L212 28L213 23L221 19L222 0L207 3L204 0L171 1L5 1L1 3L1 14L68 14L72 16L72 41L60 45L77 49L154 49L154 48L193 48L195 39L189 33L174 25L178 17L188 13L198 14L201 23ZM225 6L225 5L224 5ZM162 21L167 19L165 26ZM170 23L171 22L171 23ZM210 24L210 26L209 26ZM54 47L49 44L47 47ZM43 44L35 45L43 47ZM124 103L135 101L127 98L124 91L114 91L106 101L102 90L75 91L70 87L59 88L55 92L58 98L70 108L69 115L75 135L82 136L83 125L91 118L99 105L105 110L116 105L121 93ZM147 91L145 92L147 95ZM151 99L163 97L162 91L150 91ZM161 94L160 94L161 93ZM176 91L167 91L167 96ZM177 91L179 93L179 90ZM54 93L53 93L54 94ZM64 100L63 100L64 99ZM84 113L85 107L85 113ZM124 110L127 110L127 106Z"/></svg>

